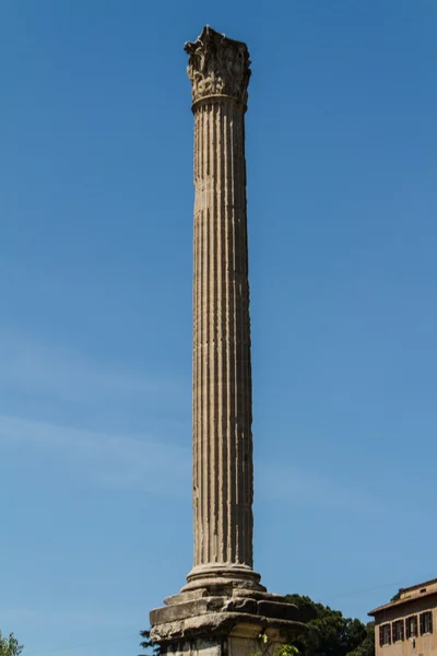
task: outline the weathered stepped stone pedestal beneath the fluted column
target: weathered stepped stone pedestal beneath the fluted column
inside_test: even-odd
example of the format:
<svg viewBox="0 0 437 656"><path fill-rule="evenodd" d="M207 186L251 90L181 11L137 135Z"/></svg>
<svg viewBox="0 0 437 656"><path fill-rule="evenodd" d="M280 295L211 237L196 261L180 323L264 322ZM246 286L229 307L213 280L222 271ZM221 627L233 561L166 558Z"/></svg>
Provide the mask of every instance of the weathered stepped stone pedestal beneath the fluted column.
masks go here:
<svg viewBox="0 0 437 656"><path fill-rule="evenodd" d="M280 595L235 586L235 579L218 581L194 589L186 586L167 597L165 607L152 610L151 639L161 654L226 656L227 648L227 656L273 656L279 645L305 632L298 608Z"/></svg>

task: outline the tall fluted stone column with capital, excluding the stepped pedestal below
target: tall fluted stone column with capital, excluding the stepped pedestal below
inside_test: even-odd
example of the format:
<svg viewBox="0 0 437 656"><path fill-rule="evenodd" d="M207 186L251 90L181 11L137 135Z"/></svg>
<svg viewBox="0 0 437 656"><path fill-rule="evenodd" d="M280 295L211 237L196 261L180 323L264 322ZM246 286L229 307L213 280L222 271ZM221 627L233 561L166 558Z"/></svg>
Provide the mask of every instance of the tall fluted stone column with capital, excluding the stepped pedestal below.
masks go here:
<svg viewBox="0 0 437 656"><path fill-rule="evenodd" d="M252 571L245 113L249 54L205 27L188 43L194 114L193 508L189 586Z"/></svg>

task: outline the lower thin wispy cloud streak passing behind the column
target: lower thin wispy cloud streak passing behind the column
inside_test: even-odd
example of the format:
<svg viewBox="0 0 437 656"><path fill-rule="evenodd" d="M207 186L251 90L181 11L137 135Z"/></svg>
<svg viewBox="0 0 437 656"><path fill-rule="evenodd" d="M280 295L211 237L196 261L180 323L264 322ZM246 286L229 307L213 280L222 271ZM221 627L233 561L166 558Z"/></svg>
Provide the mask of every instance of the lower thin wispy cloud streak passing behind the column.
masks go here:
<svg viewBox="0 0 437 656"><path fill-rule="evenodd" d="M189 485L191 448L146 435L99 433L0 414L0 449L50 452L69 468L110 487L156 489L172 481L169 493ZM303 467L256 462L257 493L294 507L326 507L374 513L380 504L359 490L333 482Z"/></svg>

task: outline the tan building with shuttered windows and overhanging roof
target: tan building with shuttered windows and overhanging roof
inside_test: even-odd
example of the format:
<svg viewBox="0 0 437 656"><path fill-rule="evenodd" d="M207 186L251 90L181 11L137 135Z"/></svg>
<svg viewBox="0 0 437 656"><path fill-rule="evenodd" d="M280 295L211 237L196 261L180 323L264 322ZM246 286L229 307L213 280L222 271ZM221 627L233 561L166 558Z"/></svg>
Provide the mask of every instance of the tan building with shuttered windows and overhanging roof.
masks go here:
<svg viewBox="0 0 437 656"><path fill-rule="evenodd" d="M371 610L376 656L437 656L437 578L401 588Z"/></svg>

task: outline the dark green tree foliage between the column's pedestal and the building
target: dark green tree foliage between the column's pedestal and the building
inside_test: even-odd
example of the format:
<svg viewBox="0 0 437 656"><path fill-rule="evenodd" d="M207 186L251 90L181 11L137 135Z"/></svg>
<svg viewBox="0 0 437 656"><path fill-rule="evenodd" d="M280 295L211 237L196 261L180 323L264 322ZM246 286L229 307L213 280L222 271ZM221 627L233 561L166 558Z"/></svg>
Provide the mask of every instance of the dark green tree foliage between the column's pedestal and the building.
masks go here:
<svg viewBox="0 0 437 656"><path fill-rule="evenodd" d="M344 618L340 610L316 604L309 597L287 595L302 612L308 631L294 646L302 656L374 656L374 642L368 641L370 630L357 619ZM370 648L371 646L371 648Z"/></svg>

